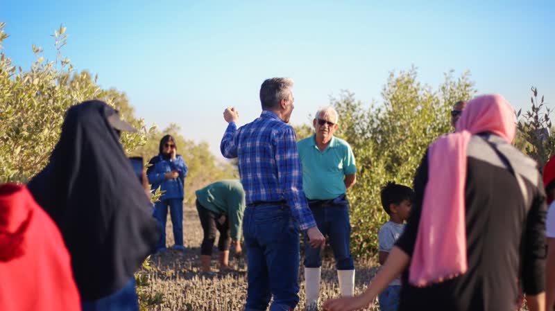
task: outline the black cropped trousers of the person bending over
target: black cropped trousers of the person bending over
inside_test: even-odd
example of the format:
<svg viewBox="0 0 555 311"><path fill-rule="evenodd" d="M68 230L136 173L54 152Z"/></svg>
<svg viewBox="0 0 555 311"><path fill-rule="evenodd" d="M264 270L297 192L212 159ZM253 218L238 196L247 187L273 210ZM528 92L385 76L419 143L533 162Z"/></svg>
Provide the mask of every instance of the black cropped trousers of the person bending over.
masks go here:
<svg viewBox="0 0 555 311"><path fill-rule="evenodd" d="M212 247L216 241L216 230L220 232L218 240L219 251L228 251L230 249L230 222L225 214L216 214L213 211L200 205L196 200L196 211L200 218L200 225L203 226L204 238L203 244L200 245L200 254L212 256Z"/></svg>

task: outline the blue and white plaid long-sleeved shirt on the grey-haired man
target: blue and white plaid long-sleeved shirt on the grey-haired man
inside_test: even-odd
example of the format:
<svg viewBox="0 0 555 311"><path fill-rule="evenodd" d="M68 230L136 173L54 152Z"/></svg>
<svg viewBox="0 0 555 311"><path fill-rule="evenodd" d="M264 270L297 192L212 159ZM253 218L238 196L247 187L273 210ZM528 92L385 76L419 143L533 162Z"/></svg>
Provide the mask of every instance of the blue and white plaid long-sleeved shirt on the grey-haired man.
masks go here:
<svg viewBox="0 0 555 311"><path fill-rule="evenodd" d="M230 122L220 144L228 159L239 157L239 175L246 204L287 201L301 230L316 226L305 193L295 130L264 110L239 130Z"/></svg>

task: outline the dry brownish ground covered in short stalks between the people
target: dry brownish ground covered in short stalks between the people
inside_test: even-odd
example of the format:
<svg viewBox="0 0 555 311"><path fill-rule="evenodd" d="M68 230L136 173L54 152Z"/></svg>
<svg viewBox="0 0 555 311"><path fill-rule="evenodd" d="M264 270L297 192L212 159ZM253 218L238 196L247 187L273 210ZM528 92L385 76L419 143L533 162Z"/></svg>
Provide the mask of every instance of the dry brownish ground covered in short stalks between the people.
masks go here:
<svg viewBox="0 0 555 311"><path fill-rule="evenodd" d="M203 231L195 208L185 207L183 231L187 250L182 253L168 250L152 256L151 269L143 269L137 283L143 283L138 291L142 302L150 304L149 311L181 310L243 310L246 299L246 263L244 258L230 258L230 273L218 273L214 277L200 275L200 242ZM171 222L167 227L167 244L173 245ZM217 251L214 251L212 271L219 272L216 265ZM232 257L232 256L231 256ZM301 265L302 266L302 265ZM356 263L357 277L355 292L362 292L376 272L371 260ZM300 302L296 310L305 310L304 272L300 268ZM325 299L339 296L339 285L334 267L334 259L326 255L322 267L321 303ZM148 301L146 301L148 300ZM379 310L377 302L366 310Z"/></svg>

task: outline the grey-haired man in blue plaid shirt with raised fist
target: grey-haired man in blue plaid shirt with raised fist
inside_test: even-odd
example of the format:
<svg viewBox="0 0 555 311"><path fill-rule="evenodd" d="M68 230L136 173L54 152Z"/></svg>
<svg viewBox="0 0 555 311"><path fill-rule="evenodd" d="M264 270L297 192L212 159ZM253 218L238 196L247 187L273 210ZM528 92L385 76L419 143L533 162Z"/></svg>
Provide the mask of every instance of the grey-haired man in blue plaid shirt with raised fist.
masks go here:
<svg viewBox="0 0 555 311"><path fill-rule="evenodd" d="M293 112L293 81L271 78L260 87L262 114L237 129L237 110L221 141L226 158L239 158L246 204L243 236L248 256L246 311L293 310L298 301L299 230L312 247L325 245L302 191L296 135L287 124Z"/></svg>

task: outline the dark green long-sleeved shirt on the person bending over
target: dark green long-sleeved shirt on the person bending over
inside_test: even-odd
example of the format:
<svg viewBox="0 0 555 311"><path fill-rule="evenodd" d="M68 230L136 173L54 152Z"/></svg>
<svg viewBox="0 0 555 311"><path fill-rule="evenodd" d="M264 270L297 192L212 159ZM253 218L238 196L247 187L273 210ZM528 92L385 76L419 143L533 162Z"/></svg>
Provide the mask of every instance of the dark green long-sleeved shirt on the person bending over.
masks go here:
<svg viewBox="0 0 555 311"><path fill-rule="evenodd" d="M245 191L239 180L221 180L195 192L200 205L214 213L228 216L231 238L241 238L241 223L245 211Z"/></svg>

